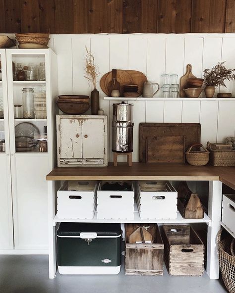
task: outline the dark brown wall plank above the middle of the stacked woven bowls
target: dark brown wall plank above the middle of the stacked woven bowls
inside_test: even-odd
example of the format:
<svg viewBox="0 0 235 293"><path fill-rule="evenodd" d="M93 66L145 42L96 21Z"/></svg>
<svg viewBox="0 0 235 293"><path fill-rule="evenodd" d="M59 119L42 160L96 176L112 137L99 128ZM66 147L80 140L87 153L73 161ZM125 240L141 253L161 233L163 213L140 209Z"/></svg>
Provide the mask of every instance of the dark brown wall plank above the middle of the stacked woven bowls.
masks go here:
<svg viewBox="0 0 235 293"><path fill-rule="evenodd" d="M20 0L21 31L24 33L38 33L39 3L38 0Z"/></svg>

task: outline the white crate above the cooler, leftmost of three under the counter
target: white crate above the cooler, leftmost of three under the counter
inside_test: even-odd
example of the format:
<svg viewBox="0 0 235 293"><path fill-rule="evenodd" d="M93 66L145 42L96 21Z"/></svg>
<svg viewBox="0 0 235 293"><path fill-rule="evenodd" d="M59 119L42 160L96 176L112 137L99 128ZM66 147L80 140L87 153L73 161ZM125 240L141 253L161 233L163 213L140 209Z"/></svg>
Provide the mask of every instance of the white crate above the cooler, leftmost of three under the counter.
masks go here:
<svg viewBox="0 0 235 293"><path fill-rule="evenodd" d="M77 181L79 190L68 190L68 183L57 192L57 216L69 219L93 219L96 210L98 182Z"/></svg>

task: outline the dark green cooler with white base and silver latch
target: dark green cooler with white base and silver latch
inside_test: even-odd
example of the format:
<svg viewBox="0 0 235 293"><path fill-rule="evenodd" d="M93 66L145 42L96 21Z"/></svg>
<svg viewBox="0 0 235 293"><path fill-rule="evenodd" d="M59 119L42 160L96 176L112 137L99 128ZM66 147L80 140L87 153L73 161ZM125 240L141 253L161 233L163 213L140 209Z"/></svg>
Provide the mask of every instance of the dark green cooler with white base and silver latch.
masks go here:
<svg viewBox="0 0 235 293"><path fill-rule="evenodd" d="M61 223L58 270L63 275L115 275L121 266L120 224Z"/></svg>

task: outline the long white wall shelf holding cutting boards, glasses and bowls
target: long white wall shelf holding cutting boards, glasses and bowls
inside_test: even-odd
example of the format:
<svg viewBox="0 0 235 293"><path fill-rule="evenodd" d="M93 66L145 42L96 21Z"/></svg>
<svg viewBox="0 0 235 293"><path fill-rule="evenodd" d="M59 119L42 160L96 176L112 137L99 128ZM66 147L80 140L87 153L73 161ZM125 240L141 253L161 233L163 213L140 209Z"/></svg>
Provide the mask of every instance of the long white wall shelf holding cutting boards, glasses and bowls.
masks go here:
<svg viewBox="0 0 235 293"><path fill-rule="evenodd" d="M113 97L104 97L106 100L235 100L235 98L113 98Z"/></svg>

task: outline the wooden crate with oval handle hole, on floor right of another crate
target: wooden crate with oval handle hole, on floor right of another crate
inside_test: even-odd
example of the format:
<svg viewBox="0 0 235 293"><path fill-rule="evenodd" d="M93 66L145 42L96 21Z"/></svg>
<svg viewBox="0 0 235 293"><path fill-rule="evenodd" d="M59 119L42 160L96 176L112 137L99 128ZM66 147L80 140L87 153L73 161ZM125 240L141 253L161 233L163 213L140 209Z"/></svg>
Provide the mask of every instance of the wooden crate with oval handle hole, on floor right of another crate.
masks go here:
<svg viewBox="0 0 235 293"><path fill-rule="evenodd" d="M170 275L203 275L204 245L192 227L164 225L162 237L165 247L165 264Z"/></svg>

